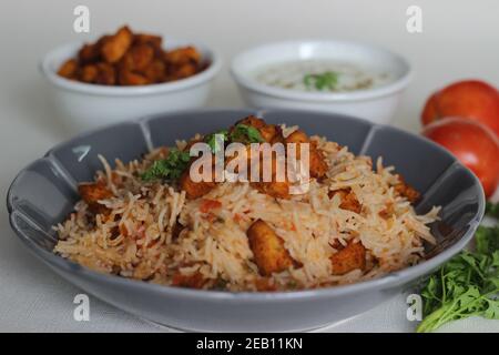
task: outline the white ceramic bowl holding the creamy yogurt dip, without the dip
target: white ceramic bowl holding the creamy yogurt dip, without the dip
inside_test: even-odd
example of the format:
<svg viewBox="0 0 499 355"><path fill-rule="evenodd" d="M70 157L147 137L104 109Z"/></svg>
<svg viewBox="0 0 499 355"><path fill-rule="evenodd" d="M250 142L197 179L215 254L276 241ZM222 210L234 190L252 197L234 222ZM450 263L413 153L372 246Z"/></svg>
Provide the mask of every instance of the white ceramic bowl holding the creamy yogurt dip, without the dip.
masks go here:
<svg viewBox="0 0 499 355"><path fill-rule="evenodd" d="M395 80L374 89L330 93L279 89L255 79L255 71L262 67L310 59L350 62L390 73ZM369 44L336 40L287 41L256 47L236 55L231 72L251 106L344 113L375 123L390 121L413 77L409 63L398 54Z"/></svg>

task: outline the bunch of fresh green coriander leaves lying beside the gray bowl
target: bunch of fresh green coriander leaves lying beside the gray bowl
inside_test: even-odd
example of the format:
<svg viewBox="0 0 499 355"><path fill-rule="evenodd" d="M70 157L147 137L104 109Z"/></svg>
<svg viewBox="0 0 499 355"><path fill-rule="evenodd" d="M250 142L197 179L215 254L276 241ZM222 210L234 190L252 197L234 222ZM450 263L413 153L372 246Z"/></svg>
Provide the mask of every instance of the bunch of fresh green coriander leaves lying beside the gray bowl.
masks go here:
<svg viewBox="0 0 499 355"><path fill-rule="evenodd" d="M488 214L497 217L497 211L488 203ZM460 252L427 281L418 333L470 316L499 320L499 226L480 226L475 241L475 252Z"/></svg>

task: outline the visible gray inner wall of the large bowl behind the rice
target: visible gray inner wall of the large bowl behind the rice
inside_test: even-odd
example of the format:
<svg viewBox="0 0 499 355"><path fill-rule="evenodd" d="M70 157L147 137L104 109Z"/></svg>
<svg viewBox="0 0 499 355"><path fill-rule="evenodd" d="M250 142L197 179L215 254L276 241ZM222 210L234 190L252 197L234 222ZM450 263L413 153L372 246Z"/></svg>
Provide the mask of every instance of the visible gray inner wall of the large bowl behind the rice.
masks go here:
<svg viewBox="0 0 499 355"><path fill-rule="evenodd" d="M153 146L172 145L196 132L212 132L251 113L256 112L213 110L160 115L96 130L62 143L22 170L12 183L8 207L19 220L14 229L35 250L51 252L57 241L52 225L72 212L78 201L78 183L90 181L102 169L99 154L111 165L115 158L128 162L140 159ZM483 193L475 175L424 138L336 114L286 110L258 114L272 123L298 124L309 134L348 145L354 153L370 155L374 161L383 155L385 165L394 164L422 193L417 205L419 213L432 205L442 207L441 221L431 225L439 244L428 245L430 258L448 253L456 243L462 244L464 235L470 239L467 232L476 227L483 214Z"/></svg>

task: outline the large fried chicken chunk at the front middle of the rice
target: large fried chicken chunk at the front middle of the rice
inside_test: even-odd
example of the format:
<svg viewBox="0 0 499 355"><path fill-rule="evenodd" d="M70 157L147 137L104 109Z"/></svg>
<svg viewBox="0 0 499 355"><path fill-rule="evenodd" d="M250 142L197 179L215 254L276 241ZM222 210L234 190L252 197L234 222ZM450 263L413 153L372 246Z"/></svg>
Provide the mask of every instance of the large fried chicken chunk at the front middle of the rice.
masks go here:
<svg viewBox="0 0 499 355"><path fill-rule="evenodd" d="M284 241L264 221L254 222L246 235L262 276L271 276L297 264L284 247Z"/></svg>

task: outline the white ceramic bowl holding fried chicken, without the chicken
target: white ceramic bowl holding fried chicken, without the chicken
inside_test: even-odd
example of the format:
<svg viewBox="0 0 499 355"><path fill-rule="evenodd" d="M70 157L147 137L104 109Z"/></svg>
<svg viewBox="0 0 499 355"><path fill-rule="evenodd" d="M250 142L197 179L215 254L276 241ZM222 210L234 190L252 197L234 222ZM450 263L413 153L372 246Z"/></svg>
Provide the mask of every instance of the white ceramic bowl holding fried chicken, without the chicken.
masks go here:
<svg viewBox="0 0 499 355"><path fill-rule="evenodd" d="M167 83L106 87L58 75L59 67L74 58L82 43L62 45L49 52L41 62L41 71L51 84L55 109L63 122L71 131L80 132L139 116L204 105L211 81L220 71L222 62L215 52L192 41L169 39L166 49L187 44L194 45L203 60L210 62L210 67L193 77Z"/></svg>

